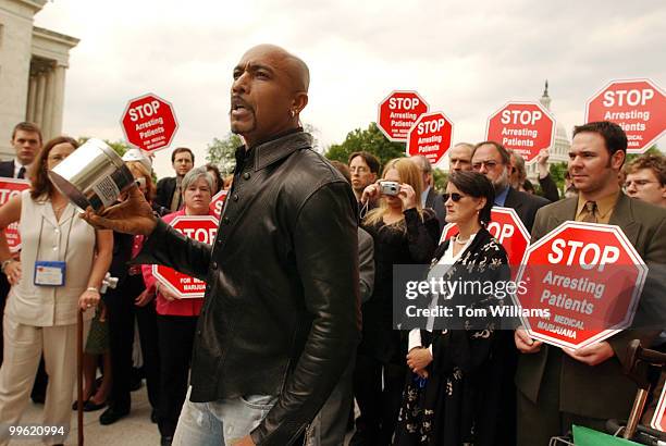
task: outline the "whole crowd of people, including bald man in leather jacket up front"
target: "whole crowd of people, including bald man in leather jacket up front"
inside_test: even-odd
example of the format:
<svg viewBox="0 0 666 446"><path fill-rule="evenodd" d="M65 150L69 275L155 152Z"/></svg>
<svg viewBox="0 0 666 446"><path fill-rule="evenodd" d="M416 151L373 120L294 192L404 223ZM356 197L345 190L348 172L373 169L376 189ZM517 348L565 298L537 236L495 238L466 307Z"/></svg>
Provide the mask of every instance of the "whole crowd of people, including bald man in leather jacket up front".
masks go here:
<svg viewBox="0 0 666 446"><path fill-rule="evenodd" d="M491 321L394 330L393 274L398 264L430 264L431 275L506 278L507 253L486 230L493 206L514 209L532 241L567 220L616 224L649 265L663 264L664 157L626 164L622 129L588 123L575 128L564 190L547 151L538 160L538 195L520 154L489 140L455 145L437 191L425 157L382 166L368 151L346 164L312 151L298 121L308 85L300 59L255 47L234 69L232 131L246 146L233 178L195 168L193 151L177 148L175 176L153 184L150 159L131 150L124 160L137 188L84 219L48 178L76 140L42 145L34 124L16 125L16 158L0 163L0 174L30 187L0 207L0 227L18 222L22 237L11 253L0 233L0 444L30 392L36 401L45 396L45 425L69 428L78 311L87 337L83 409L104 409L101 424L118 422L131 411L139 373L162 445L303 437L328 446L351 435L354 446L533 446L571 424L603 430L606 419L627 417L637 386L622 373L626 347L640 338L664 349L658 331L625 331L574 351ZM211 214L221 188L229 195L212 246L169 228L178 215ZM459 232L440 243L446 223ZM206 297L181 298L152 275L152 263L205 280ZM50 273L38 274L40 267ZM119 282L102 295L107 272Z"/></svg>

